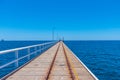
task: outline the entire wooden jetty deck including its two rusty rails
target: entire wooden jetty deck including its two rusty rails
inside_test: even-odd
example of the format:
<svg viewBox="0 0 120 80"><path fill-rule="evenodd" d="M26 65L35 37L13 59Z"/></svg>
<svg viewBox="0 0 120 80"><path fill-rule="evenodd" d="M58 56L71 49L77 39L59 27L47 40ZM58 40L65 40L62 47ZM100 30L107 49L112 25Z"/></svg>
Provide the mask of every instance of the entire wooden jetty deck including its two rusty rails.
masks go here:
<svg viewBox="0 0 120 80"><path fill-rule="evenodd" d="M2 80L98 80L62 42Z"/></svg>

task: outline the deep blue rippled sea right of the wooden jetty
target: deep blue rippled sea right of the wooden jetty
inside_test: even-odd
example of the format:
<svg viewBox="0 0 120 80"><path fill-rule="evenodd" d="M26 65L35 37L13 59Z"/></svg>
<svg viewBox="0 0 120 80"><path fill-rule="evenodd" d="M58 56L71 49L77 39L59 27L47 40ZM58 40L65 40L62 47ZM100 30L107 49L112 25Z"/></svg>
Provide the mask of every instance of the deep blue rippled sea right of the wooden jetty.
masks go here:
<svg viewBox="0 0 120 80"><path fill-rule="evenodd" d="M100 80L120 80L120 41L67 41Z"/></svg>

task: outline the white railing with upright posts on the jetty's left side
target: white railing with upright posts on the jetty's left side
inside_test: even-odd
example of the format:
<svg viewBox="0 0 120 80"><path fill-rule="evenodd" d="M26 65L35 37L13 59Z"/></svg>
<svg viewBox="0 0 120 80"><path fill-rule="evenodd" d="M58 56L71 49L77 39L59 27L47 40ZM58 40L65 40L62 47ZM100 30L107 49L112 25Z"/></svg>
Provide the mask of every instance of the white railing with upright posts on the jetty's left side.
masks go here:
<svg viewBox="0 0 120 80"><path fill-rule="evenodd" d="M42 44L38 44L38 45L32 45L32 46L26 46L26 47L21 47L21 48L0 51L0 54L8 54L9 52L14 52L14 54L15 54L15 60L10 61L10 62L0 66L0 69L7 67L13 63L15 63L16 67L19 67L19 60L24 59L24 58L28 58L30 60L30 57L32 54L37 54L37 51L40 51L40 53L41 53L43 50L47 49L48 47L51 47L53 44L54 44L53 42L47 42L47 43L42 43ZM36 53L34 53L34 52L32 53L30 51L30 49L33 47L37 50ZM39 50L37 49L37 47L39 47ZM25 56L19 57L19 51L24 50L24 49L27 49L28 54Z"/></svg>

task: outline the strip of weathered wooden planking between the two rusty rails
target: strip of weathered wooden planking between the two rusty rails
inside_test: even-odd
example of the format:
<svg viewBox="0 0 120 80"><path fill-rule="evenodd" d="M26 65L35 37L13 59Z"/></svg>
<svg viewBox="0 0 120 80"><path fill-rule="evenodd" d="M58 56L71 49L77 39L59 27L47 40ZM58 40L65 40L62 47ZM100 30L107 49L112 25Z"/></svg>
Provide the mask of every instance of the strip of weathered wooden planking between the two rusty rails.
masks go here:
<svg viewBox="0 0 120 80"><path fill-rule="evenodd" d="M72 80L69 74L62 44L56 56L49 80Z"/></svg>

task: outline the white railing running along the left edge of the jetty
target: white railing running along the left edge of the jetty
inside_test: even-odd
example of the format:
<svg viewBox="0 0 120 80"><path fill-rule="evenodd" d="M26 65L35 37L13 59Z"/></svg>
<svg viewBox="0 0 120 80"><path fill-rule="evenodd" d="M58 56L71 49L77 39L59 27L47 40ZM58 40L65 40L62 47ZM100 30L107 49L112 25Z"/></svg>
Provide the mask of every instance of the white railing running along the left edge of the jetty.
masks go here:
<svg viewBox="0 0 120 80"><path fill-rule="evenodd" d="M53 46L56 43L57 43L57 41L46 42L46 43L42 43L42 44L38 44L38 45L32 45L32 46L27 46L27 47L21 47L21 48L16 48L16 49L0 51L0 56L4 55L4 54L11 54L11 52L12 52L12 53L14 53L14 57L15 57L14 60L12 60L10 62L7 62L7 63L5 63L3 65L0 65L0 70L7 67L7 66L9 66L9 65L11 65L11 64L14 64L14 63L16 64L16 67L19 67L19 61L20 60L22 60L24 58L27 58L28 61L29 61L29 60L31 60L31 55L33 55L33 54L37 55L37 53L40 54L40 53L47 50L48 48L50 48L51 46ZM32 51L32 49L34 49L34 50ZM19 56L19 52L21 50L26 50L27 54L25 54L23 56Z"/></svg>

